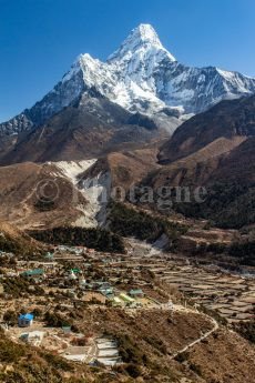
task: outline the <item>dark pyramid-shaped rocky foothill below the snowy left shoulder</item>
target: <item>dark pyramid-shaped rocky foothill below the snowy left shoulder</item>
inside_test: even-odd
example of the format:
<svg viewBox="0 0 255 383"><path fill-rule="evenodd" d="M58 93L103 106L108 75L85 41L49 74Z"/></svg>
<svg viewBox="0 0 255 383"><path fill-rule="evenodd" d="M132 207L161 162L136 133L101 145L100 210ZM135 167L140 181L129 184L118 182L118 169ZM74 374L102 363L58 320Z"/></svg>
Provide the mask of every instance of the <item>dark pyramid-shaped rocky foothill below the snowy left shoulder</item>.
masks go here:
<svg viewBox="0 0 255 383"><path fill-rule="evenodd" d="M134 117L105 98L83 94L37 129L18 135L0 163L73 161L132 149L165 137L150 119Z"/></svg>

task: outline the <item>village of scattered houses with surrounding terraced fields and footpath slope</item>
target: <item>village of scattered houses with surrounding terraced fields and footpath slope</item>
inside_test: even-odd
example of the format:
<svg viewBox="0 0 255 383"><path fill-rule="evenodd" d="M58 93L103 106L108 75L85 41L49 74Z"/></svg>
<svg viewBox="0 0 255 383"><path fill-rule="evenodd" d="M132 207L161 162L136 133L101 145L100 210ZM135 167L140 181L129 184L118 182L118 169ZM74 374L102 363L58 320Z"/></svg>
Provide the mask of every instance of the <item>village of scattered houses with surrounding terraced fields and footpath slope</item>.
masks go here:
<svg viewBox="0 0 255 383"><path fill-rule="evenodd" d="M130 323L149 346L177 361L224 329L252 320L255 283L248 272L226 272L134 239L125 246L118 254L51 245L29 261L1 251L4 334L112 371L137 357L125 352L125 343L136 343L136 334L126 333Z"/></svg>

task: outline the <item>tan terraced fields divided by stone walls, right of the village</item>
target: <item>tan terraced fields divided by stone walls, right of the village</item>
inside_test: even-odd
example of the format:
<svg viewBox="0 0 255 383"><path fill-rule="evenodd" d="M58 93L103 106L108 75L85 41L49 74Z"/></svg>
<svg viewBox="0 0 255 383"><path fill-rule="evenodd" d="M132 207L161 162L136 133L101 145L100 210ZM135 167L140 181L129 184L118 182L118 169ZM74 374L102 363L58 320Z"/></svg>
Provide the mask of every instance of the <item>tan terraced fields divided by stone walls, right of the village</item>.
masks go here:
<svg viewBox="0 0 255 383"><path fill-rule="evenodd" d="M149 250L135 241L132 245L130 255L139 268L150 270L155 278L174 286L195 304L217 311L230 323L254 319L255 275L200 265L184 256Z"/></svg>

